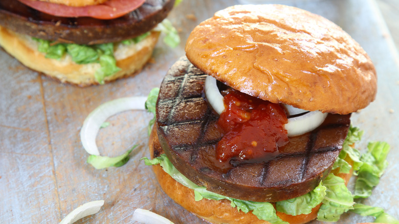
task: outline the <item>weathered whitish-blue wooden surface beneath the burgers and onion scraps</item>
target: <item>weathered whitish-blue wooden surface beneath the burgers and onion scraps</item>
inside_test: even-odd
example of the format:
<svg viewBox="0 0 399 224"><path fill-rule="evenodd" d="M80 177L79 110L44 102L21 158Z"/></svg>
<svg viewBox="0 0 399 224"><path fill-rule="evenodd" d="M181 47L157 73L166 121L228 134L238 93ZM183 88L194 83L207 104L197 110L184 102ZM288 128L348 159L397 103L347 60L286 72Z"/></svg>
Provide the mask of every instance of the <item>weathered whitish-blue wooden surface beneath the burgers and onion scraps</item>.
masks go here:
<svg viewBox="0 0 399 224"><path fill-rule="evenodd" d="M274 2L295 5L335 21L360 42L375 62L378 96L352 122L366 132L361 147L368 140L383 140L392 149L386 174L364 203L383 207L399 218L399 60L378 5L372 0ZM215 11L236 3L183 1L169 16L181 31L180 46L169 49L158 44L154 63L142 73L106 85L79 88L60 84L26 69L1 50L0 223L57 223L79 205L98 199L105 200L104 207L79 223L131 223L136 208L150 209L175 223L203 223L173 203L159 187L151 168L139 161L148 155L146 125L150 115L127 111L110 118L111 125L100 130L97 143L104 155L119 155L133 144L140 144L120 168L95 170L88 165L79 131L85 117L101 103L146 96L151 88L159 86L175 59L184 55L189 32ZM393 0L379 3L387 12L384 16L388 24L397 24L397 8L386 7ZM392 33L398 32L397 26L391 28ZM394 37L399 43L398 35ZM372 219L349 214L340 223L364 220Z"/></svg>

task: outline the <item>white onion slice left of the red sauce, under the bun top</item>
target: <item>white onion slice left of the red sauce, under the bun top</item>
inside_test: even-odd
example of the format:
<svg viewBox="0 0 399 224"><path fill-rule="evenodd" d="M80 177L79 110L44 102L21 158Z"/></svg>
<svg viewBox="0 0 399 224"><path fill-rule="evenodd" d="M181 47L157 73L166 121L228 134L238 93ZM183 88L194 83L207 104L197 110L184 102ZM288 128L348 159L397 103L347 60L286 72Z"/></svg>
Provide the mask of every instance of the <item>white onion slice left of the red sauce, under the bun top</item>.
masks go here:
<svg viewBox="0 0 399 224"><path fill-rule="evenodd" d="M220 115L225 110L225 104L223 96L217 88L216 79L212 76L207 76L205 79L205 95L213 109Z"/></svg>

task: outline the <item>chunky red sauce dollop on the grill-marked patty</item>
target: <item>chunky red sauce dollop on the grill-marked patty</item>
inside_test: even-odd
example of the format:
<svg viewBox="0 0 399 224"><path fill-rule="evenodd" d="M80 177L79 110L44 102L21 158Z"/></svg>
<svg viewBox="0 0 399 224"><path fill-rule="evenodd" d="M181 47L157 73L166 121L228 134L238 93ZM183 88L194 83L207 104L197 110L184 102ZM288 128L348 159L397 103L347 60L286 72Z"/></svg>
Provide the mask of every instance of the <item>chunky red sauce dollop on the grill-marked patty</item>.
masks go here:
<svg viewBox="0 0 399 224"><path fill-rule="evenodd" d="M225 135L216 145L216 158L258 159L276 152L288 142L284 109L276 103L229 89L224 97L226 110L217 125Z"/></svg>

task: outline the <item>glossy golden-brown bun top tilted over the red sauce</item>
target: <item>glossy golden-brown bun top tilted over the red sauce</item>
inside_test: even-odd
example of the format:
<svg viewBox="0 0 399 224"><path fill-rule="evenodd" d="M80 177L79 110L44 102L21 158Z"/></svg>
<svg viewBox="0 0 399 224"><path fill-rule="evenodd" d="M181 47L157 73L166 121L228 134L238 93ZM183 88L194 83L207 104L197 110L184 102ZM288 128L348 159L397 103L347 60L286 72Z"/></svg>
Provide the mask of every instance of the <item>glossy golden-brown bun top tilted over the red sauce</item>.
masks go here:
<svg viewBox="0 0 399 224"><path fill-rule="evenodd" d="M305 110L349 114L376 94L366 52L328 19L283 5L238 5L191 32L186 55L242 93Z"/></svg>

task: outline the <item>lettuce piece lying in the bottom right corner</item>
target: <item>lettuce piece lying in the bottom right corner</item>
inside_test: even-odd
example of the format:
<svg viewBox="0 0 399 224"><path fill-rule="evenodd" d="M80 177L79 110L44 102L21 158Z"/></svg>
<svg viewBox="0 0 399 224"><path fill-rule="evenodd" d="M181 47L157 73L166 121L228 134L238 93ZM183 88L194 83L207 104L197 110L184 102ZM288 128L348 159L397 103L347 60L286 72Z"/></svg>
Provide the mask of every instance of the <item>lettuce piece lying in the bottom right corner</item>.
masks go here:
<svg viewBox="0 0 399 224"><path fill-rule="evenodd" d="M385 213L384 209L379 207L372 207L363 204L354 204L352 212L361 216L373 216L375 217L374 222L399 224L399 221L394 217Z"/></svg>

